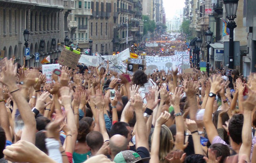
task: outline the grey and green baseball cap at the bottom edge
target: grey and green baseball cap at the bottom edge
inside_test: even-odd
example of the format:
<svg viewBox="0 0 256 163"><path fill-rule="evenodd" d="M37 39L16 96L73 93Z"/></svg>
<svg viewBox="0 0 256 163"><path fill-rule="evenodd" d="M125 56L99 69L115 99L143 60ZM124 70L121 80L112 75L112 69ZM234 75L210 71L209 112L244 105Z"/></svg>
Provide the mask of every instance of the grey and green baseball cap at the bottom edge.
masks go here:
<svg viewBox="0 0 256 163"><path fill-rule="evenodd" d="M115 158L114 158L114 162L115 163L136 163L138 161L149 161L150 157L146 157L146 158L141 158L141 156L139 156L138 153L131 151L131 150L127 150L127 151L121 151L119 152Z"/></svg>

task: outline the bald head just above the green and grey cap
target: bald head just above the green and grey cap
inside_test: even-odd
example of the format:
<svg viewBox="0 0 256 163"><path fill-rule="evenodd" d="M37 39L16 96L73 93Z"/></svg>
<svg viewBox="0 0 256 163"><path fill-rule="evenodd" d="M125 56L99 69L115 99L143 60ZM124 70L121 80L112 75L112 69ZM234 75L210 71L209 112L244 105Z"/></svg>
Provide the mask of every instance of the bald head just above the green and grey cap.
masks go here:
<svg viewBox="0 0 256 163"><path fill-rule="evenodd" d="M120 151L128 150L128 142L125 136L115 134L110 138L109 148L111 156L115 157Z"/></svg>

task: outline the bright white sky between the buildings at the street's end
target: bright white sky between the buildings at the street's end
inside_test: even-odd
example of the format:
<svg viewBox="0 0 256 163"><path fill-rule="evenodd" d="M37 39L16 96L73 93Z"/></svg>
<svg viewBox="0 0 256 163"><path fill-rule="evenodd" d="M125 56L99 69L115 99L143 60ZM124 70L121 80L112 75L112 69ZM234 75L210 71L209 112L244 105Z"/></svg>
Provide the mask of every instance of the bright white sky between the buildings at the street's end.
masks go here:
<svg viewBox="0 0 256 163"><path fill-rule="evenodd" d="M185 7L185 0L163 0L163 7L165 7L166 18L172 18L176 10Z"/></svg>

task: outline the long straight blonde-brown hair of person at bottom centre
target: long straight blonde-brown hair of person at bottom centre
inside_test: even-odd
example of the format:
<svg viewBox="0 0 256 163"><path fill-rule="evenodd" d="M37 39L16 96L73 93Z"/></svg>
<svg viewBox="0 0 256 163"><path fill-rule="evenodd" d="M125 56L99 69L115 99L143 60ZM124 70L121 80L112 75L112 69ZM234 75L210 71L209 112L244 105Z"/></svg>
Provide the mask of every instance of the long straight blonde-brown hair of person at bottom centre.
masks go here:
<svg viewBox="0 0 256 163"><path fill-rule="evenodd" d="M153 140L153 136L151 137L151 141ZM174 148L174 144L171 142L171 140L174 140L172 136L172 132L170 129L162 125L161 131L160 131L160 146L159 146L159 161L164 162L165 156Z"/></svg>

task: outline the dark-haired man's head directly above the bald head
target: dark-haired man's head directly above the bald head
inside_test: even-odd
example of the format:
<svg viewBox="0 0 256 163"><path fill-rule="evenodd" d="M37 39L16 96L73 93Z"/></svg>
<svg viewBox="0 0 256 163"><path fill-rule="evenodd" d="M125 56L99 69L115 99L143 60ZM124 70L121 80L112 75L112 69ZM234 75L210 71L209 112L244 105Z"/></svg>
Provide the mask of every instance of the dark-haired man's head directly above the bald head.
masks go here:
<svg viewBox="0 0 256 163"><path fill-rule="evenodd" d="M110 135L114 136L115 134L125 136L128 143L131 141L132 131L128 123L117 122L113 124L112 128L110 129Z"/></svg>

